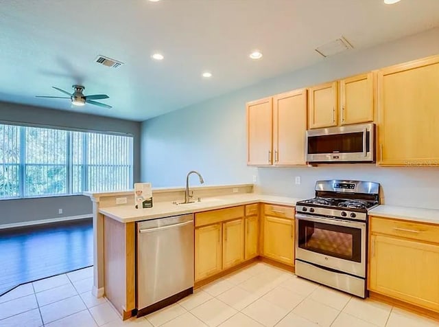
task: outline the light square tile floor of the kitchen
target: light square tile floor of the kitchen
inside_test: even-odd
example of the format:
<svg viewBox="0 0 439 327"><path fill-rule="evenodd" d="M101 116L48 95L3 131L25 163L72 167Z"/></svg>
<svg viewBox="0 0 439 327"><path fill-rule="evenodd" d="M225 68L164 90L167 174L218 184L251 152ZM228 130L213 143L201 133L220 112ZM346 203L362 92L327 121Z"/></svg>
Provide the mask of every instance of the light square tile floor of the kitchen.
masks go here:
<svg viewBox="0 0 439 327"><path fill-rule="evenodd" d="M93 268L19 286L0 297L0 326L26 327L429 327L439 322L257 263L180 302L122 322L91 295Z"/></svg>

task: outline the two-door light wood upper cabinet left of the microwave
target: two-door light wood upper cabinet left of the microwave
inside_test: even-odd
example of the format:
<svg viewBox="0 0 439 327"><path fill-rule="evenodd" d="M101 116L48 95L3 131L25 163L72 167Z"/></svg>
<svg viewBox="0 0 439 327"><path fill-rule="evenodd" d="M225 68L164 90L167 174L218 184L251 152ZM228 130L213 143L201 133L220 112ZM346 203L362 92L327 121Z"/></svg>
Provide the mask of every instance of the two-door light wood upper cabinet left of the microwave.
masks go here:
<svg viewBox="0 0 439 327"><path fill-rule="evenodd" d="M306 165L307 90L249 102L247 128L248 165Z"/></svg>

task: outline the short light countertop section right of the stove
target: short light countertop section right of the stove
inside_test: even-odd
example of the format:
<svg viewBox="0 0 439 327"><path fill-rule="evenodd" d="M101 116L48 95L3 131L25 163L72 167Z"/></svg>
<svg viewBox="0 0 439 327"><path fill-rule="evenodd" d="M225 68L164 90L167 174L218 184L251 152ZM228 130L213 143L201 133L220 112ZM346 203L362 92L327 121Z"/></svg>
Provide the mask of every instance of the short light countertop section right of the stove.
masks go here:
<svg viewBox="0 0 439 327"><path fill-rule="evenodd" d="M379 205L369 210L370 216L418 221L419 223L439 224L439 210L421 207L399 207L396 205Z"/></svg>

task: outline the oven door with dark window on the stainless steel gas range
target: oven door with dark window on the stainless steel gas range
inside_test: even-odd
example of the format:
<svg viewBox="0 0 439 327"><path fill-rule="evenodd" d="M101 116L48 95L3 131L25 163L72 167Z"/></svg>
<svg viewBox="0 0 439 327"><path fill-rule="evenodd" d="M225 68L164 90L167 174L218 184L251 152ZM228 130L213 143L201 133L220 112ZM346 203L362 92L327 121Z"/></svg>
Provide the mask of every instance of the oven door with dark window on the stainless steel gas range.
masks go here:
<svg viewBox="0 0 439 327"><path fill-rule="evenodd" d="M296 214L296 259L366 278L366 223Z"/></svg>

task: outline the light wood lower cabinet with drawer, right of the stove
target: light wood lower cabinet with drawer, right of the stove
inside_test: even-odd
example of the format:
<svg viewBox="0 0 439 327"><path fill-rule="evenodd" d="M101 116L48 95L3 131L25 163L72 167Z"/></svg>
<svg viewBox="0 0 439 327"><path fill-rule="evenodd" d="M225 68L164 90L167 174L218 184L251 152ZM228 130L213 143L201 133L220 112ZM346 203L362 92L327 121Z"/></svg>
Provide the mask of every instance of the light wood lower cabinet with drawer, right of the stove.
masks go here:
<svg viewBox="0 0 439 327"><path fill-rule="evenodd" d="M370 291L439 312L437 227L375 217L370 221ZM438 244L425 241L435 239Z"/></svg>

